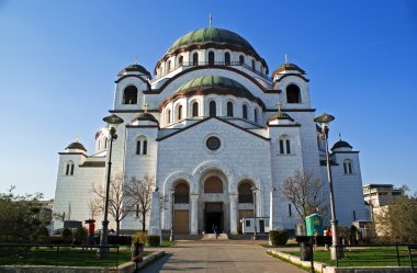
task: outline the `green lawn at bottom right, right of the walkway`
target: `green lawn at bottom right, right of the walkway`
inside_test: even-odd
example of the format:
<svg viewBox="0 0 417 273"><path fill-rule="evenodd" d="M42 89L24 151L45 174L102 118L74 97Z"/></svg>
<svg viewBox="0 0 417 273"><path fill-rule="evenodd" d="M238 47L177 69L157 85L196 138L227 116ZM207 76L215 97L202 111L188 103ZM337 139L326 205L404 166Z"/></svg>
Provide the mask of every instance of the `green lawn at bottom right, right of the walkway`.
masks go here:
<svg viewBox="0 0 417 273"><path fill-rule="evenodd" d="M284 251L300 257L300 251ZM410 266L408 249L398 247L399 262L402 266ZM329 251L314 251L314 260L336 266L336 261L330 260ZM346 249L345 258L339 259L339 266L398 266L395 247L373 247L361 249Z"/></svg>

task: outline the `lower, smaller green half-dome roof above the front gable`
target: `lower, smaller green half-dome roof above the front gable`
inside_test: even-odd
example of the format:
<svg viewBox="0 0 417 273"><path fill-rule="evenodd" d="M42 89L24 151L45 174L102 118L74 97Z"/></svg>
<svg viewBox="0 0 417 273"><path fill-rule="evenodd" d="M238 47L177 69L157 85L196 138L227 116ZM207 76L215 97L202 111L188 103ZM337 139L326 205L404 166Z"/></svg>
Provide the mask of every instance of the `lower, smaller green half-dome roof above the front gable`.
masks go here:
<svg viewBox="0 0 417 273"><path fill-rule="evenodd" d="M239 82L221 76L203 76L192 79L182 84L176 93L187 93L194 90L205 89L230 89L250 94L249 90Z"/></svg>

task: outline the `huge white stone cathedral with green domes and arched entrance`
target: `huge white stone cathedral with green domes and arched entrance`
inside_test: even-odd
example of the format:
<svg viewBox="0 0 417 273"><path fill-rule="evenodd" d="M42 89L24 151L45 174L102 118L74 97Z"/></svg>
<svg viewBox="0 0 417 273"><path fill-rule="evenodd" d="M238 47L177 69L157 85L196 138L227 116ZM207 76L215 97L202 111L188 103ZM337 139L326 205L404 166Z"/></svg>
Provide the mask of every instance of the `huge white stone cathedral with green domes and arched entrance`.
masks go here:
<svg viewBox="0 0 417 273"><path fill-rule="evenodd" d="M179 37L153 73L127 66L116 76L110 110L123 120L117 139L110 143L103 127L93 152L79 141L59 152L54 213L91 218L91 189L105 185L112 147L111 178L151 178L165 196L162 229L239 234L241 219L255 216L258 232L293 230L300 218L280 185L295 170L308 171L328 196L326 153L306 72L286 58L274 67L270 73L247 39L215 27ZM330 147L336 215L350 227L365 219L359 151L341 139ZM140 227L135 212L121 221L122 230Z"/></svg>

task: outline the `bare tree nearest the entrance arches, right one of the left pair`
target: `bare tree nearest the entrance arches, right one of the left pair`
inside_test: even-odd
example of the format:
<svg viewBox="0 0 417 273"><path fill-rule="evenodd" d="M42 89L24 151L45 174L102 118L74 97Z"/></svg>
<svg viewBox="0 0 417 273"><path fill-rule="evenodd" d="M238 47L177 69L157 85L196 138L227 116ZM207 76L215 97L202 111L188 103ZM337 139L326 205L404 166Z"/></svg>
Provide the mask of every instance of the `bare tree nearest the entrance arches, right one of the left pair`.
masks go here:
<svg viewBox="0 0 417 273"><path fill-rule="evenodd" d="M131 183L125 185L126 195L136 206L136 216L142 223L142 231L145 231L146 218L150 213L155 178L145 175L142 180L133 177Z"/></svg>

